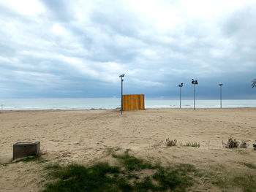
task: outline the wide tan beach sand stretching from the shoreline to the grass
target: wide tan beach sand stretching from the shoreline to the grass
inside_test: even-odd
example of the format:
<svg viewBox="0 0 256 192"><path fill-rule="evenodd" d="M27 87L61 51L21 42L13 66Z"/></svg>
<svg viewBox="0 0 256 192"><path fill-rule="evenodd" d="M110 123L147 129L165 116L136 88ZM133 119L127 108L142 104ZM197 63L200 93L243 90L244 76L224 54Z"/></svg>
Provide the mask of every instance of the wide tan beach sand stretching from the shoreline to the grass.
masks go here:
<svg viewBox="0 0 256 192"><path fill-rule="evenodd" d="M246 149L227 149L222 141L232 136ZM200 142L200 147L165 147L161 141ZM45 172L40 164L7 164L15 142L41 142L42 158L49 162L91 164L104 159L108 149L131 149L135 156L162 164L194 164L198 169L250 172L242 163L255 164L256 108L39 110L0 113L0 191L40 191ZM208 188L209 186L207 186ZM209 191L219 191L210 186ZM198 191L207 191L204 181Z"/></svg>

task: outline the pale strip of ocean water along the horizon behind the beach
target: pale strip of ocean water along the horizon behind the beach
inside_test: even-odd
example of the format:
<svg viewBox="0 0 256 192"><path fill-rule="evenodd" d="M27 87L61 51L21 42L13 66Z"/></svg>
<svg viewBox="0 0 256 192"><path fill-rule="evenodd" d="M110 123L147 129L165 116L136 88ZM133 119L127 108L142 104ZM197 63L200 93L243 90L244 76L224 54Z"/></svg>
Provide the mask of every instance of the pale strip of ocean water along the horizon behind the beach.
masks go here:
<svg viewBox="0 0 256 192"><path fill-rule="evenodd" d="M3 110L115 109L120 99L0 99ZM145 99L146 108L179 108L179 100ZM193 108L194 100L182 100L182 108ZM219 100L197 100L197 108L219 108ZM256 99L222 100L222 108L256 107Z"/></svg>

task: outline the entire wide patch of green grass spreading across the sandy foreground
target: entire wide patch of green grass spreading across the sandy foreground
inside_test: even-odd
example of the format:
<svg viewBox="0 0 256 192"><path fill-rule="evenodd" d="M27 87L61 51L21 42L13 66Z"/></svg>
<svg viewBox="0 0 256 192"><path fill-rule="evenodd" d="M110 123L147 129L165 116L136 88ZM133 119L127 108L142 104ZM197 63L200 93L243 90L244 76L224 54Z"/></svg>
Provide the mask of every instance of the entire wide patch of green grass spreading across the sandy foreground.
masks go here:
<svg viewBox="0 0 256 192"><path fill-rule="evenodd" d="M53 191L187 191L197 170L190 164L160 166L151 164L127 150L113 155L119 166L108 163L81 166L48 166L53 182L44 192ZM144 172L143 172L144 171ZM151 174L145 174L150 171ZM144 174L143 174L144 173ZM144 176L143 176L144 175Z"/></svg>

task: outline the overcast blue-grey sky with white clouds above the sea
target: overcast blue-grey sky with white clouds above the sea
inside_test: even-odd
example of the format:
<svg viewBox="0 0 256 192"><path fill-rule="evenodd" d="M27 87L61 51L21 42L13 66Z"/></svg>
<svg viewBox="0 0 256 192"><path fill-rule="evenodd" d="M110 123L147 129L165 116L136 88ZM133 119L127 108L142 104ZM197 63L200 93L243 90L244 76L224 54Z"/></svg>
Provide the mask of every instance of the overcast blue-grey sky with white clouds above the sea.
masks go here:
<svg viewBox="0 0 256 192"><path fill-rule="evenodd" d="M0 0L0 99L256 99L256 1Z"/></svg>

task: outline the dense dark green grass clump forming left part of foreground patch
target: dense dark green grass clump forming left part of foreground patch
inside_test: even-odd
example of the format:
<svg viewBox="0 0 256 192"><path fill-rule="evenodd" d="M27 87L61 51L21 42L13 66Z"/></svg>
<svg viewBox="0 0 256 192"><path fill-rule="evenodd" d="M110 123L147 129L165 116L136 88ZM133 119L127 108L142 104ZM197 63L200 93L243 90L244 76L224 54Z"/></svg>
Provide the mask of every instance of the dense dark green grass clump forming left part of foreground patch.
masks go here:
<svg viewBox="0 0 256 192"><path fill-rule="evenodd" d="M59 178L48 185L46 191L118 191L118 188L129 188L122 177L120 169L109 164L97 164L86 168L80 165L69 165L53 171L53 177ZM110 177L110 175L112 177ZM113 185L116 184L116 185Z"/></svg>

